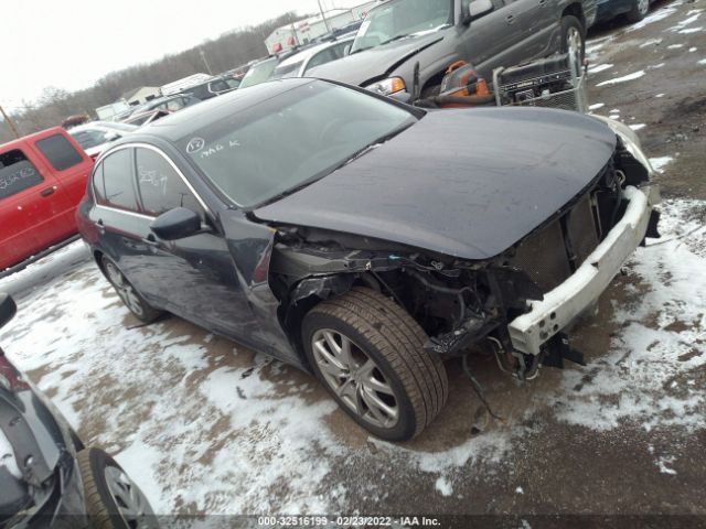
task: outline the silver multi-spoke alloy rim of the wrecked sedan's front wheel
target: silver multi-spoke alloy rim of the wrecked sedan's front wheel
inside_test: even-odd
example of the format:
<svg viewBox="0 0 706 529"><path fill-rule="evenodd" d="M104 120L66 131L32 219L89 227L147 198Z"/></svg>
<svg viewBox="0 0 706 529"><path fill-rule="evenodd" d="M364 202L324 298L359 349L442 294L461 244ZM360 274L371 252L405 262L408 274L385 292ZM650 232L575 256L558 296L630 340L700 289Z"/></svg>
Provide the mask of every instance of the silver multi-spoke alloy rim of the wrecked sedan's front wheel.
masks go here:
<svg viewBox="0 0 706 529"><path fill-rule="evenodd" d="M314 361L334 393L364 421L394 428L397 397L375 361L347 336L329 328L311 337Z"/></svg>

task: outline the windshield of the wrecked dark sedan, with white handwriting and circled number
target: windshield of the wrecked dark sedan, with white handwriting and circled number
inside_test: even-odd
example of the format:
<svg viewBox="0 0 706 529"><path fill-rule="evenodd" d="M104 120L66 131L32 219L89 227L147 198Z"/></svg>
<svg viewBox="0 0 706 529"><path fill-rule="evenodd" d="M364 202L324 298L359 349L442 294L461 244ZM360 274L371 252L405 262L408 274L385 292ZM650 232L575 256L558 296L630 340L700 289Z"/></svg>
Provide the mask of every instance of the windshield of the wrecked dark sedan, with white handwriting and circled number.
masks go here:
<svg viewBox="0 0 706 529"><path fill-rule="evenodd" d="M178 145L228 199L250 208L325 176L416 121L392 102L311 82L197 130Z"/></svg>

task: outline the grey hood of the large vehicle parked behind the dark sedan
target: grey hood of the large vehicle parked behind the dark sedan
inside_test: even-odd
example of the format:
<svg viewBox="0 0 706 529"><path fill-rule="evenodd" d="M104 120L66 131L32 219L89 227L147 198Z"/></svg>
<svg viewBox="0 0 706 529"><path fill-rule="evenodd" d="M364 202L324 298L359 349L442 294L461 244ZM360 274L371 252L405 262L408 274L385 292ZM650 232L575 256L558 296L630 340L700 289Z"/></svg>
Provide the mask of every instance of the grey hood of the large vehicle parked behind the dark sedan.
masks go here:
<svg viewBox="0 0 706 529"><path fill-rule="evenodd" d="M387 77L399 65L422 50L441 42L448 31L448 29L435 31L353 53L338 61L311 68L307 72L307 76L362 86L368 82Z"/></svg>

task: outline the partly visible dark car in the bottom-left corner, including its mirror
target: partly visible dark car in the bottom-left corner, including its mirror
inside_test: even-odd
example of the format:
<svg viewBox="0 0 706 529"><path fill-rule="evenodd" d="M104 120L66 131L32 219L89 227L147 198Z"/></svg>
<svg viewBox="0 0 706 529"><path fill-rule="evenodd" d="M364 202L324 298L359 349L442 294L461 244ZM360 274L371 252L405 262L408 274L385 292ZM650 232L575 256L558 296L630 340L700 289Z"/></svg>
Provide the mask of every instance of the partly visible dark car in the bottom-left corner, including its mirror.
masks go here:
<svg viewBox="0 0 706 529"><path fill-rule="evenodd" d="M0 327L15 310L0 293ZM2 349L0 492L2 528L157 527L147 497L120 465L84 446Z"/></svg>

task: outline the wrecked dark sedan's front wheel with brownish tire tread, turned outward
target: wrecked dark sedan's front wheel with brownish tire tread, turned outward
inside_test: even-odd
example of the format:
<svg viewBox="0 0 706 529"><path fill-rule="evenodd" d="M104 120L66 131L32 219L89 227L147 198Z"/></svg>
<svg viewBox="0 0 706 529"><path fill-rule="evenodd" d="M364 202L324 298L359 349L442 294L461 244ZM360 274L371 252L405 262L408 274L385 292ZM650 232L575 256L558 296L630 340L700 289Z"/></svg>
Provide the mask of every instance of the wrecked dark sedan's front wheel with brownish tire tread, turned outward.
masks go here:
<svg viewBox="0 0 706 529"><path fill-rule="evenodd" d="M302 339L339 406L381 439L418 435L446 403L446 369L424 349L426 333L379 292L354 288L319 303L303 319Z"/></svg>

